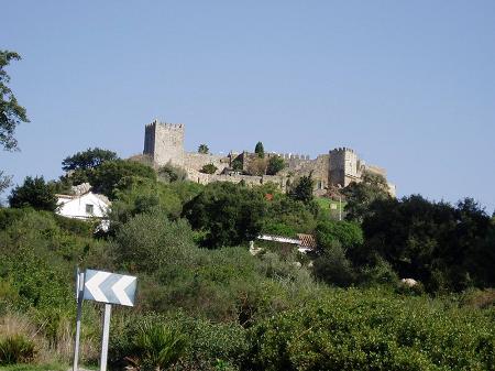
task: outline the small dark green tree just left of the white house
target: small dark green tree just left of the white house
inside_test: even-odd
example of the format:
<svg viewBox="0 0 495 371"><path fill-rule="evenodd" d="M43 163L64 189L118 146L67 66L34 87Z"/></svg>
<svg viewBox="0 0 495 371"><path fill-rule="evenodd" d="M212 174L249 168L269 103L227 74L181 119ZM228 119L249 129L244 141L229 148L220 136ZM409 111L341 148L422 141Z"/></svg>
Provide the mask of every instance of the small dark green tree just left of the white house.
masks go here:
<svg viewBox="0 0 495 371"><path fill-rule="evenodd" d="M43 176L26 176L23 185L12 189L9 203L15 208L32 207L48 211L54 211L57 207L54 186L46 183Z"/></svg>

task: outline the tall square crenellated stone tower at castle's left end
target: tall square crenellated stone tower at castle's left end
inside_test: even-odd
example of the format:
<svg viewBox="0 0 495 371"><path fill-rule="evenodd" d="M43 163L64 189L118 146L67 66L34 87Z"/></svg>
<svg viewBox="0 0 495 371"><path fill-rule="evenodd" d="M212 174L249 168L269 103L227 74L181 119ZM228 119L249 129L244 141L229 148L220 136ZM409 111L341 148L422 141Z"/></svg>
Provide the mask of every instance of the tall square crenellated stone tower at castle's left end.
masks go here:
<svg viewBox="0 0 495 371"><path fill-rule="evenodd" d="M144 130L144 151L156 165L184 167L184 124L154 120Z"/></svg>

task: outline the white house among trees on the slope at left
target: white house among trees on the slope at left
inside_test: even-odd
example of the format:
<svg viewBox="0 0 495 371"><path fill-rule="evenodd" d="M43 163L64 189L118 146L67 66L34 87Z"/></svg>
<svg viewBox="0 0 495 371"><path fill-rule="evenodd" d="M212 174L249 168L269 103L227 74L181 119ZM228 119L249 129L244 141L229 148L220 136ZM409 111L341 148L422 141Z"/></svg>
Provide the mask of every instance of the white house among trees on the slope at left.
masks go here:
<svg viewBox="0 0 495 371"><path fill-rule="evenodd" d="M90 188L91 186L85 183L73 187L74 195L56 195L58 199L56 212L81 220L102 219L101 228L107 229L108 221L105 218L111 203L106 196L90 192Z"/></svg>

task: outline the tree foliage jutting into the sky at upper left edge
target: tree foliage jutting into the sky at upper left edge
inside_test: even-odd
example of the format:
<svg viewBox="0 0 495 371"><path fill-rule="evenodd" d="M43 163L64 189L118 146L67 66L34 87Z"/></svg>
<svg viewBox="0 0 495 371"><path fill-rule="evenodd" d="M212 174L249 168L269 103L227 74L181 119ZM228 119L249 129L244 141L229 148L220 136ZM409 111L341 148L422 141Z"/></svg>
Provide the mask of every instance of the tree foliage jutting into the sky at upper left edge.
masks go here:
<svg viewBox="0 0 495 371"><path fill-rule="evenodd" d="M18 103L15 96L9 88L10 76L6 67L11 61L20 61L21 56L15 52L0 51L0 145L7 151L18 148L15 128L21 122L29 122L25 108Z"/></svg>

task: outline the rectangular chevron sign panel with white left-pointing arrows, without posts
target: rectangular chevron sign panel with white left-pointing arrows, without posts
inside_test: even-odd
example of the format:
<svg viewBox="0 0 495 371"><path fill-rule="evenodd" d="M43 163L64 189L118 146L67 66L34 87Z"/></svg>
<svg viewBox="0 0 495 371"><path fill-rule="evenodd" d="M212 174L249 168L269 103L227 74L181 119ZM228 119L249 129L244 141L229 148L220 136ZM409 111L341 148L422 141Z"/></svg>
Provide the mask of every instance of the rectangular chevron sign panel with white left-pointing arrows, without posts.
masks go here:
<svg viewBox="0 0 495 371"><path fill-rule="evenodd" d="M82 298L134 306L135 286L136 277L132 275L86 270Z"/></svg>

